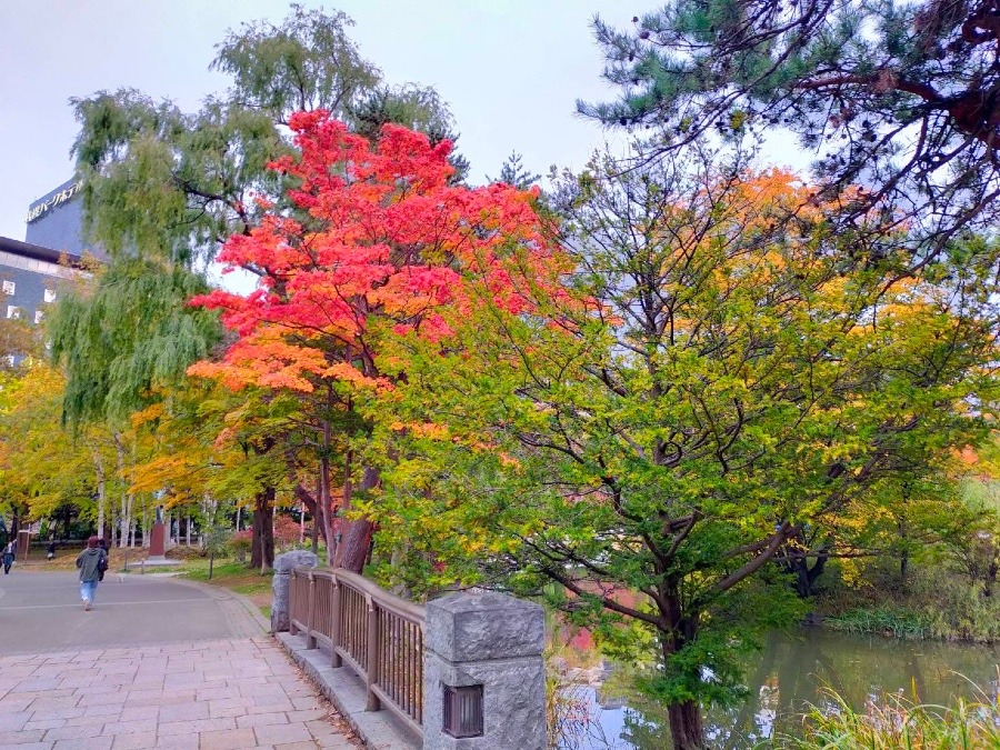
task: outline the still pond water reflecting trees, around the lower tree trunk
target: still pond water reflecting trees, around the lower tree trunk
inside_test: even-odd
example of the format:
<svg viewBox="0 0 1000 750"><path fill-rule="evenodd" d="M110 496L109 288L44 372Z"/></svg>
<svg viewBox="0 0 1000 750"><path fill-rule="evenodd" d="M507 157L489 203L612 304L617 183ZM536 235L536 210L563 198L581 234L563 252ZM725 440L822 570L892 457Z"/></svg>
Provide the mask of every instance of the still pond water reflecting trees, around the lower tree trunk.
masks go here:
<svg viewBox="0 0 1000 750"><path fill-rule="evenodd" d="M772 636L747 667L749 699L707 713L713 748L744 750L776 731L796 733L807 703L833 710L827 688L856 709L888 692L940 706L959 696L983 700L974 686L990 700L1000 692L1000 647L900 641L816 628ZM589 718L572 722L566 748L662 750L666 710L616 688L621 681L612 677L600 688L574 689L574 698L588 704Z"/></svg>

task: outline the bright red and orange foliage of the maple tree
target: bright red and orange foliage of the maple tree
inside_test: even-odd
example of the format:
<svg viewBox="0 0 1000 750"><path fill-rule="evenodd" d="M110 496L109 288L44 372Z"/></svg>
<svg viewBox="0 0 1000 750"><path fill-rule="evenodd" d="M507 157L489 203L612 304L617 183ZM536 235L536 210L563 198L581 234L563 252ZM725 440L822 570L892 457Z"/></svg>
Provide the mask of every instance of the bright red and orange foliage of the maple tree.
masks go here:
<svg viewBox="0 0 1000 750"><path fill-rule="evenodd" d="M192 300L219 309L238 338L191 374L233 389L311 392L322 379L386 389L383 337L439 341L451 333L446 307L461 314L486 291L519 313L533 303L516 279L558 287L567 264L546 239L536 193L451 184L450 143L399 126L377 144L322 111L293 116L291 128L300 153L272 168L297 183L293 210L227 242L220 262L258 273L260 288Z"/></svg>

